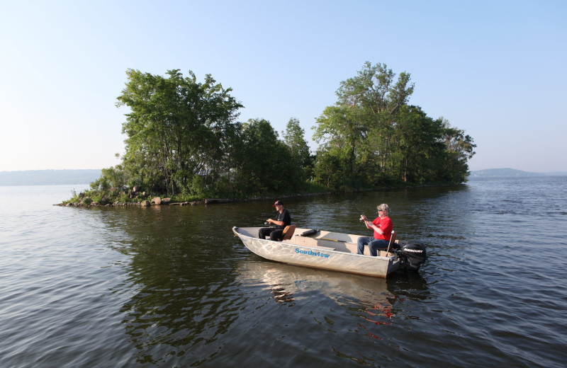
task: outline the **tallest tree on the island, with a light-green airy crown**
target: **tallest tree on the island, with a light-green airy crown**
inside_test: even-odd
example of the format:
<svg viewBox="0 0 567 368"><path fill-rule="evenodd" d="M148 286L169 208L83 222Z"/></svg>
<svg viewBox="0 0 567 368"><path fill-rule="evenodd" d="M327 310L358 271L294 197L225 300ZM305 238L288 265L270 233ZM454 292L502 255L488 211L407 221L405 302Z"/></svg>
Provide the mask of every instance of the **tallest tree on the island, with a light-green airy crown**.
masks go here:
<svg viewBox="0 0 567 368"><path fill-rule="evenodd" d="M357 76L342 81L337 103L318 117L313 138L325 145L325 154L340 157L344 185L361 185L391 169L392 140L400 108L413 92L410 74L395 74L386 64L364 64ZM369 183L367 183L369 184Z"/></svg>

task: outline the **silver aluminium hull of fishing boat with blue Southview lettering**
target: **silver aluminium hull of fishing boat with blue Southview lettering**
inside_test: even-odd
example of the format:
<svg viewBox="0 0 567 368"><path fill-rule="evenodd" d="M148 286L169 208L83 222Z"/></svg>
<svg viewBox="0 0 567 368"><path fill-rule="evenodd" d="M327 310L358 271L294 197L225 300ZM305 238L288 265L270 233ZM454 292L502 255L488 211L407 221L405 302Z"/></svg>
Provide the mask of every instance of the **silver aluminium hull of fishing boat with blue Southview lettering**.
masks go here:
<svg viewBox="0 0 567 368"><path fill-rule="evenodd" d="M322 234L327 234L327 238L321 235L319 238L303 238L297 234L307 229L296 229L296 235L288 241L271 241L257 238L258 229L235 226L232 231L249 251L268 260L374 277L386 277L400 266L393 254L377 257L357 254L353 249L356 235L324 232ZM330 238L328 234L335 236Z"/></svg>

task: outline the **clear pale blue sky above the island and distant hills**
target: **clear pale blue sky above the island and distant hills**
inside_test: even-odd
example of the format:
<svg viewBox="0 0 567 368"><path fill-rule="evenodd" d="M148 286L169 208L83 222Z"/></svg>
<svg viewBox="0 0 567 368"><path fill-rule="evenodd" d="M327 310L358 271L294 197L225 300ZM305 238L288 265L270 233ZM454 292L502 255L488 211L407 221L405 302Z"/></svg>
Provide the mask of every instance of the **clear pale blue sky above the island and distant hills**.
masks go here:
<svg viewBox="0 0 567 368"><path fill-rule="evenodd" d="M312 127L365 62L471 135L471 171L567 171L567 1L0 0L0 171L108 168L128 69L206 74L239 121Z"/></svg>

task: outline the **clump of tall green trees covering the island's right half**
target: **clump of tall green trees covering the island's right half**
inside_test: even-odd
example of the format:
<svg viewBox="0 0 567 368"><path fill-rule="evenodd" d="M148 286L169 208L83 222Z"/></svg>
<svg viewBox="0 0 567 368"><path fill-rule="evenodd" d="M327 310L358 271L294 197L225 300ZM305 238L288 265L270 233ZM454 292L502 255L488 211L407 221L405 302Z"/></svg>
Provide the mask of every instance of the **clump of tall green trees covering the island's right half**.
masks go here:
<svg viewBox="0 0 567 368"><path fill-rule="evenodd" d="M337 90L337 103L314 127L320 143L316 180L328 188L369 188L381 183L462 183L473 139L408 105L414 84L385 64L363 69Z"/></svg>

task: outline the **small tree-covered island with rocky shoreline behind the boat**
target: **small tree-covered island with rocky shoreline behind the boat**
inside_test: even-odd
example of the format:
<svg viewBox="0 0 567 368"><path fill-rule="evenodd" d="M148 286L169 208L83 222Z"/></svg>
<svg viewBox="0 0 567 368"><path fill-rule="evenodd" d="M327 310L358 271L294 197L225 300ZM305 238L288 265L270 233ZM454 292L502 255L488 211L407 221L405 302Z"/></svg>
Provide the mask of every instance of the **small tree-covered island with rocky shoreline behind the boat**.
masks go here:
<svg viewBox="0 0 567 368"><path fill-rule="evenodd" d="M366 62L342 81L337 102L316 120L310 154L297 119L283 139L262 118L237 121L243 105L210 74L157 76L129 69L118 107L127 106L121 163L104 168L64 204L174 202L273 197L385 186L463 183L476 144L443 117L408 105L410 74Z"/></svg>

